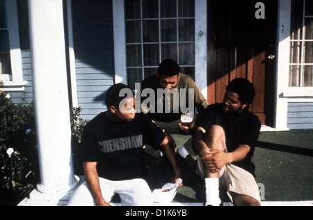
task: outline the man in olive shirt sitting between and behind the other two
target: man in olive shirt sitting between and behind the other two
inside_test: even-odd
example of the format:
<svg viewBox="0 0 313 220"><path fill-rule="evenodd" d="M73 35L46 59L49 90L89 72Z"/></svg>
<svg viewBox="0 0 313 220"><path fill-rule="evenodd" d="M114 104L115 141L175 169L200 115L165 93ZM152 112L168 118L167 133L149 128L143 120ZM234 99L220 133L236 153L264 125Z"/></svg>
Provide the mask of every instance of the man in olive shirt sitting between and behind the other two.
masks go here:
<svg viewBox="0 0 313 220"><path fill-rule="evenodd" d="M161 99L155 99L154 103L143 103L143 91L147 88L150 89L150 91L152 89L155 94L159 94L158 92L160 90L163 91L163 97L161 97ZM171 98L167 99L166 96L169 94L173 95ZM169 95L169 97L170 96L171 95ZM152 120L166 132L173 148L176 148L176 144L170 134L191 134L195 127L196 118L193 119L195 108L199 115L201 115L204 109L209 106L209 103L195 84L195 81L188 75L180 73L179 65L176 61L171 59L162 61L157 74L147 77L142 81L141 103L143 113L152 118ZM152 106L154 108L152 108ZM166 107L168 107L168 109ZM188 114L186 115L186 113ZM187 116L187 118L189 116L191 120L181 120L182 116ZM159 152L151 152L149 149L150 148L147 148L147 151L150 155L154 157L159 156ZM179 148L179 155L193 164L194 161L191 159L191 155L193 155L191 140Z"/></svg>

